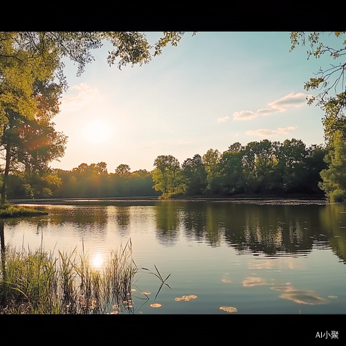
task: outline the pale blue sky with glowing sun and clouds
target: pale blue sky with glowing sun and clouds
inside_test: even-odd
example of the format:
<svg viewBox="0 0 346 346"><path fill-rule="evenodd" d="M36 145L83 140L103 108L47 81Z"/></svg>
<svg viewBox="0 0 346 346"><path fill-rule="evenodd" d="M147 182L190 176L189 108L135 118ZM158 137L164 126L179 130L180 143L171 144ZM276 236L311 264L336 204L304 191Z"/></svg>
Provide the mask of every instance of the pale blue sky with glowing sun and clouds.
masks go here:
<svg viewBox="0 0 346 346"><path fill-rule="evenodd" d="M146 35L154 44L162 34ZM323 112L306 100L318 92L304 90L304 82L331 58L307 60L302 46L290 53L289 32L185 33L149 64L121 71L107 64L111 48L93 51L80 77L64 60L69 91L54 122L69 138L53 168L104 161L109 173L120 164L150 171L157 156L182 164L235 142L324 143Z"/></svg>

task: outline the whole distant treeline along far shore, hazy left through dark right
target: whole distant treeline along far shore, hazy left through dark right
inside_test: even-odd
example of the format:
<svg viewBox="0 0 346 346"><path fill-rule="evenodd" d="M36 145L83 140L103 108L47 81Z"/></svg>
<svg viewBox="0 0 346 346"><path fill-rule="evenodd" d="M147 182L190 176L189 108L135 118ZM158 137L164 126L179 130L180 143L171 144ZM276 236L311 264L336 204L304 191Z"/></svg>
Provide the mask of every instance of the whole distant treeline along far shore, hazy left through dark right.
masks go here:
<svg viewBox="0 0 346 346"><path fill-rule="evenodd" d="M52 170L46 178L35 176L30 193L20 173L10 176L7 196L18 198L90 198L174 195L220 196L237 194L282 195L320 194L320 172L327 169L326 149L302 140L283 143L262 140L245 147L234 143L224 153L209 149L194 155L181 165L171 155L158 156L154 170L130 172L129 165L119 165L107 172L104 162L82 163L73 170Z"/></svg>

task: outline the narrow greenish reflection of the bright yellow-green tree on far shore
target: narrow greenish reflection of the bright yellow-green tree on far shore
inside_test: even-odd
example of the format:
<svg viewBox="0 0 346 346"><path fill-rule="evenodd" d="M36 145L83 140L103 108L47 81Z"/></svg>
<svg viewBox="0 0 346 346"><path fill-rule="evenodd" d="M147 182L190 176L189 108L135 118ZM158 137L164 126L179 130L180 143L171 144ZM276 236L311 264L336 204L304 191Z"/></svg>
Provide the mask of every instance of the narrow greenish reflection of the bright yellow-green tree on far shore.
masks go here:
<svg viewBox="0 0 346 346"><path fill-rule="evenodd" d="M176 244L181 203L162 202L155 206L156 236L163 245Z"/></svg>

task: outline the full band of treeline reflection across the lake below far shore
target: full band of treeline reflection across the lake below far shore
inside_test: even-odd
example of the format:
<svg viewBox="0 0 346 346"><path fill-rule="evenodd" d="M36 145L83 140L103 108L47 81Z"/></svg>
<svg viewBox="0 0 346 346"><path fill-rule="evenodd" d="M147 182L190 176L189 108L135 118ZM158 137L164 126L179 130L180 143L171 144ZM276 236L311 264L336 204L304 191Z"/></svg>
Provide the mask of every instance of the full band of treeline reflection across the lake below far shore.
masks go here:
<svg viewBox="0 0 346 346"><path fill-rule="evenodd" d="M239 201L238 201L239 202ZM136 221L141 226L155 225L159 244L175 246L180 232L187 239L210 246L223 243L238 253L264 253L268 256L303 255L313 248L332 250L346 259L346 206L331 204L273 205L273 203L217 203L214 201L102 201L96 206L49 205L49 216L30 219L40 230L57 226L82 231L84 237L106 237L107 225L116 221L122 235L130 235ZM107 205L108 203L108 205ZM132 205L131 205L132 204ZM15 226L11 219L6 224ZM3 239L3 236L2 236Z"/></svg>

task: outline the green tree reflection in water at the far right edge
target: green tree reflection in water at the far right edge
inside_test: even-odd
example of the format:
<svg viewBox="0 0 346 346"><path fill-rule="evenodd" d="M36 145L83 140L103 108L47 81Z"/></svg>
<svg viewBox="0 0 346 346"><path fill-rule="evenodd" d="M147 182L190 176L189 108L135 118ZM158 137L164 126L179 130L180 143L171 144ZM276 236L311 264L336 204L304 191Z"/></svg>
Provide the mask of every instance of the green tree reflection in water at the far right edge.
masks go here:
<svg viewBox="0 0 346 346"><path fill-rule="evenodd" d="M346 262L346 205L329 204L320 210L320 224L329 230L329 245L334 253ZM327 233L325 233L327 235ZM327 235L328 236L328 235Z"/></svg>

